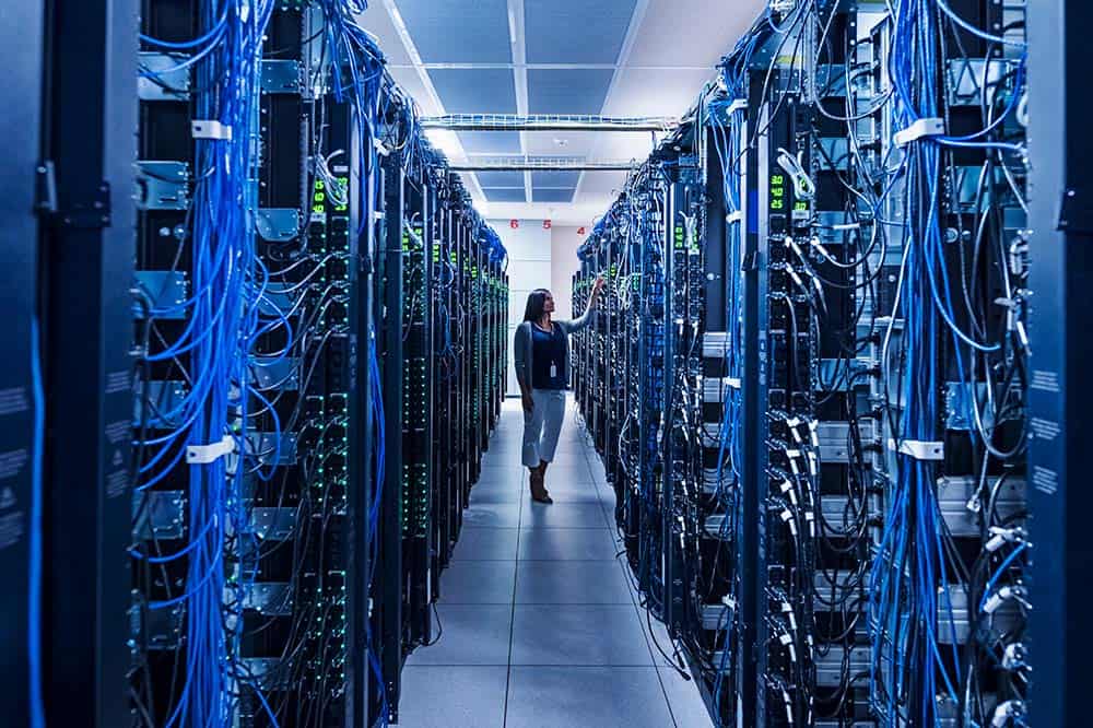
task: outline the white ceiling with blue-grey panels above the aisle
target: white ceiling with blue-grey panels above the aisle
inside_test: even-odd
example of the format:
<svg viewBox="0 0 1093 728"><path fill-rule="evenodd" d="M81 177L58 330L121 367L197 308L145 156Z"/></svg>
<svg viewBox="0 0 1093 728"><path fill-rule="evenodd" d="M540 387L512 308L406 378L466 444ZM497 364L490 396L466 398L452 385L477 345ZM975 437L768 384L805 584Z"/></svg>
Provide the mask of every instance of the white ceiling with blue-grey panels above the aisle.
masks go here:
<svg viewBox="0 0 1093 728"><path fill-rule="evenodd" d="M715 77L721 56L765 4L765 0L376 0L360 20L379 40L391 74L425 116L457 113L453 106L458 113L505 108L527 114L538 106L553 114L679 116ZM507 36L507 44L501 35ZM504 74L512 74L512 86ZM493 133L479 133L475 148L500 143L512 145L506 152L531 156L630 161L644 158L654 144L651 132L483 137ZM454 163L481 156L468 156L459 134L430 136ZM625 176L586 172L574 190L541 188L540 184L562 181L536 176L532 184L527 174L522 195L516 189L519 175L509 175L505 181L509 189L504 190L483 188L475 175L465 174L463 179L487 218L588 225L611 204ZM572 201L531 201L542 196Z"/></svg>

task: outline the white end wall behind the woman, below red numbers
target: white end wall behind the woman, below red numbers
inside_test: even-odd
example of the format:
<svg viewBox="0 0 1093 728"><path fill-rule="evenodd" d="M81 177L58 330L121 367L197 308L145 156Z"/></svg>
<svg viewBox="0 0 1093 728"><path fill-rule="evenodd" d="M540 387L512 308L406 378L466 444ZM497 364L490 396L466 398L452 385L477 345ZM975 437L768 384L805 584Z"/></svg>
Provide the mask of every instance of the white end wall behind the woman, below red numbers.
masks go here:
<svg viewBox="0 0 1093 728"><path fill-rule="evenodd" d="M528 294L550 289L559 318L571 318L573 273L579 267L577 247L587 235L576 226L543 227L542 220L519 220L514 228L508 220L491 220L508 250L508 341L512 347L517 325L524 319ZM591 225L585 227L586 232ZM508 362L508 394L519 392L512 354Z"/></svg>

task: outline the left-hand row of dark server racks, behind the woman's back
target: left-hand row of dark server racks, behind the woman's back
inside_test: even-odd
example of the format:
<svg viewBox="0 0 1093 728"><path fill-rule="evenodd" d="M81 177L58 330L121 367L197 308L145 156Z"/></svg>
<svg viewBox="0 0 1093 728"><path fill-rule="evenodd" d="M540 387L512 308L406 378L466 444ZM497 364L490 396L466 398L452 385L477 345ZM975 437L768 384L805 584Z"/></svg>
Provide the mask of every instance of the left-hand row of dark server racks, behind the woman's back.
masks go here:
<svg viewBox="0 0 1093 728"><path fill-rule="evenodd" d="M0 723L397 723L501 411L500 238L363 3L32 4Z"/></svg>

